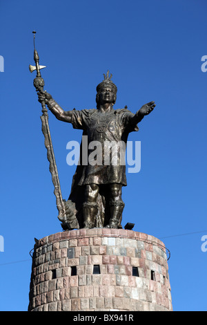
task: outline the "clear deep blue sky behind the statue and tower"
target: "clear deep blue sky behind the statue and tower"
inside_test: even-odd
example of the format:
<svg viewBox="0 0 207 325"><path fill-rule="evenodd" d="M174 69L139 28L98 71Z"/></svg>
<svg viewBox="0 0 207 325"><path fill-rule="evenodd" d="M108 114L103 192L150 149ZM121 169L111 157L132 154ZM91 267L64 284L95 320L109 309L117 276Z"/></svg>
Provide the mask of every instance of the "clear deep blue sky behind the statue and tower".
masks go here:
<svg viewBox="0 0 207 325"><path fill-rule="evenodd" d="M207 310L206 10L206 0L0 1L0 310L27 310L34 237L61 231L28 70L34 29L45 89L64 109L95 108L108 69L118 88L115 108L135 113L156 102L128 139L141 141L141 171L127 175L122 224L135 223L170 250L174 310ZM68 198L75 166L66 164L66 144L80 141L81 131L52 114L49 122Z"/></svg>

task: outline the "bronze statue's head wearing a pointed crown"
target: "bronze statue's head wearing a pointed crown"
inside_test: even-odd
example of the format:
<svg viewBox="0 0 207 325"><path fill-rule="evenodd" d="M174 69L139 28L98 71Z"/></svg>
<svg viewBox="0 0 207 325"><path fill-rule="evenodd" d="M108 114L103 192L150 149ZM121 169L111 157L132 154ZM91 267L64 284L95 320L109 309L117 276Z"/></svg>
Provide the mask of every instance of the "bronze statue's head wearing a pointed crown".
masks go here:
<svg viewBox="0 0 207 325"><path fill-rule="evenodd" d="M111 102L115 104L117 100L117 86L111 81L112 75L108 77L109 71L107 71L106 75L103 73L104 80L98 84L97 86L97 107L101 102Z"/></svg>

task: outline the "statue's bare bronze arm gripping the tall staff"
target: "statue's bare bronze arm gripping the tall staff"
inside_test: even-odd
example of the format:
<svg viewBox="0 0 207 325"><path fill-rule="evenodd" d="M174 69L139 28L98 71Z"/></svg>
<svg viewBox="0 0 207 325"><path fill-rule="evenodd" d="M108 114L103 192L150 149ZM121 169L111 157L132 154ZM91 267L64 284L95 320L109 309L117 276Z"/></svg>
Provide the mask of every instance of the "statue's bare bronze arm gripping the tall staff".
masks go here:
<svg viewBox="0 0 207 325"><path fill-rule="evenodd" d="M58 120L63 122L71 122L72 111L64 111L49 93L37 93L39 102L45 102L48 105L48 109L55 115Z"/></svg>

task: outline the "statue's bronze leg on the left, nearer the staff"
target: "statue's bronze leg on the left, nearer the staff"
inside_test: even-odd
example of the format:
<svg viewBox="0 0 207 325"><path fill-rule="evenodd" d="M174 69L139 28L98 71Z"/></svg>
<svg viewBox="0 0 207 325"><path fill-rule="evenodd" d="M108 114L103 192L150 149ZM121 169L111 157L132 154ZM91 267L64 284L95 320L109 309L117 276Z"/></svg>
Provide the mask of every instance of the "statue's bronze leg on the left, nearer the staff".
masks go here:
<svg viewBox="0 0 207 325"><path fill-rule="evenodd" d="M95 227L95 217L98 213L97 196L99 186L97 184L86 185L85 202L83 203L83 225L84 228Z"/></svg>

